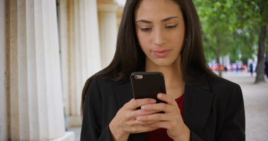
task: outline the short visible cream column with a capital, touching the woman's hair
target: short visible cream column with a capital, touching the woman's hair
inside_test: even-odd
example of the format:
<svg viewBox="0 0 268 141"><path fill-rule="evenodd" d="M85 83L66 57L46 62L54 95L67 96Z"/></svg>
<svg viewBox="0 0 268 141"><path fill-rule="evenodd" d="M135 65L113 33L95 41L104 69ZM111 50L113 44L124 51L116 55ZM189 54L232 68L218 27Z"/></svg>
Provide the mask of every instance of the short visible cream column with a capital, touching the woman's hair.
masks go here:
<svg viewBox="0 0 268 141"><path fill-rule="evenodd" d="M117 4L112 1L99 1L99 31L100 31L100 45L102 52L102 68L111 63L116 51L117 39L117 18L116 10Z"/></svg>

